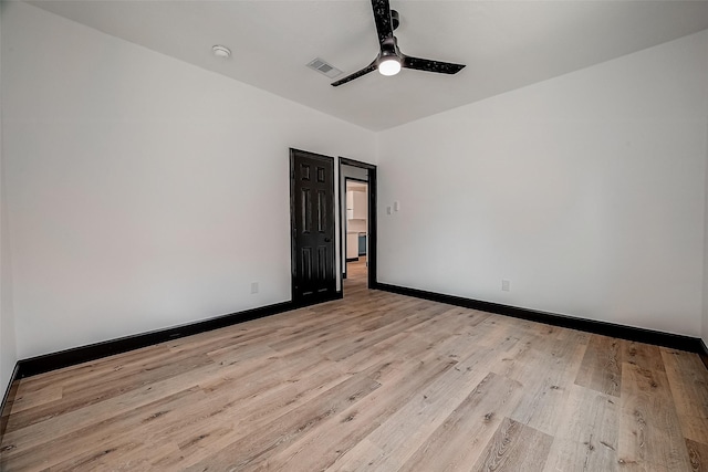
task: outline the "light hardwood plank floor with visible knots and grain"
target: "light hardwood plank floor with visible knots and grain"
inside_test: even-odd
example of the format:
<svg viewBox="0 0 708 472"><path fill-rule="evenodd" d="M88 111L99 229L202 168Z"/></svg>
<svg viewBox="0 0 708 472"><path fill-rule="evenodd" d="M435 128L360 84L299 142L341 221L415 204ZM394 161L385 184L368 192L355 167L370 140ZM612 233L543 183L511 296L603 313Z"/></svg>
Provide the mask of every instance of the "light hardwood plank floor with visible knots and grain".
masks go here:
<svg viewBox="0 0 708 472"><path fill-rule="evenodd" d="M368 291L365 273L343 301L21 380L1 469L708 470L695 354Z"/></svg>

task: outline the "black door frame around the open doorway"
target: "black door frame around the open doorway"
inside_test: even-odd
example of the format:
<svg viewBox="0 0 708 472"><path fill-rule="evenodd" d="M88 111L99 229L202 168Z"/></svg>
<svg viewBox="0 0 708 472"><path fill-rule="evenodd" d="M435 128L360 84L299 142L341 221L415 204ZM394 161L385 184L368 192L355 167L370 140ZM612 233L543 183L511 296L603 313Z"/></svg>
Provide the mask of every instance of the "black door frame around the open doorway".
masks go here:
<svg viewBox="0 0 708 472"><path fill-rule="evenodd" d="M376 266L377 266L377 250L376 250L376 241L377 241L377 237L376 237L376 219L377 219L377 212L376 212L376 202L377 202L377 198L376 198L376 166L373 164L367 164L367 162L362 162L360 160L354 160L354 159L348 159L346 157L342 157L340 156L340 167L339 167L339 176L340 176L340 185L337 186L339 190L337 192L340 193L340 209L339 209L339 213L342 214L342 208L345 207L346 204L346 187L344 189L345 193L342 195L342 166L351 166L351 167L358 167L361 169L366 169L367 170L367 183L368 183L368 219L366 221L366 244L367 244L367 254L366 254L366 262L368 263L367 266L367 275L368 275L368 289L376 289L378 285L378 282L376 280ZM354 180L354 179L353 179ZM342 287L342 292L344 292L344 272L346 271L346 241L344 240L344 238L346 238L346 229L345 229L346 223L343 221L342 224L340 224L340 260L342 261L342 264L344 264L343 268L340 268L340 284Z"/></svg>

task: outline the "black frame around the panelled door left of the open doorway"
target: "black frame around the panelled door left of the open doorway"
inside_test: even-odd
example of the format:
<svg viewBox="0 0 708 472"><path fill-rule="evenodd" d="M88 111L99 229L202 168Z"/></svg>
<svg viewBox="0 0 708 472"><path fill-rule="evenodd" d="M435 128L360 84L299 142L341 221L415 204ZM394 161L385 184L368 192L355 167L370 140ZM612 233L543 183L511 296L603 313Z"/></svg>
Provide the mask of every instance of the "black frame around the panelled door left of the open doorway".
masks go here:
<svg viewBox="0 0 708 472"><path fill-rule="evenodd" d="M322 154L316 154L316 153L311 153L309 150L302 150L302 149L295 149L295 148L290 148L290 256L291 256L291 268L290 268L290 272L291 272L291 277L290 277L290 297L292 303L295 306L308 306L308 305L314 305L317 303L322 303L322 302L326 302L330 300L336 300L336 298L341 298L342 297L342 292L336 290L336 274L333 274L334 277L332 280L332 283L334 285L334 290L333 293L330 294L329 296L322 296L320 298L316 300L312 300L312 302L309 301L303 301L302 297L300 295L296 294L295 291L295 280L298 277L296 271L298 271L298 244L296 244L296 235L295 235L295 157L298 154L304 154L308 155L309 157L313 157L313 158L319 158L319 159L323 159L325 161L329 161L332 166L332 199L330 200L330 208L332 209L331 214L329 216L329 221L332 222L332 224L334 225L333 231L332 231L332 238L336 238L336 195L339 192L339 190L336 188L334 188L335 186L335 181L339 181L336 179L337 177L337 172L335 171L336 168L334 166L334 158L331 156L325 156ZM332 256L333 256L333 268L336 271L336 245L333 243L334 250L332 251Z"/></svg>

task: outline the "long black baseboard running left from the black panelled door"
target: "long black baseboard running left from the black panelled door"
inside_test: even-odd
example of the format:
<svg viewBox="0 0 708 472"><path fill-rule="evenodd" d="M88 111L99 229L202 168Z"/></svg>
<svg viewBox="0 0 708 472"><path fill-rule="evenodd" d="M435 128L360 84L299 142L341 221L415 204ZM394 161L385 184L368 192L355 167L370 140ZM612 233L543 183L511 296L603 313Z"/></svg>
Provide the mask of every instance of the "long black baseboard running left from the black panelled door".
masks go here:
<svg viewBox="0 0 708 472"><path fill-rule="evenodd" d="M335 297L337 296L335 295ZM339 294L339 297L342 297L341 293ZM18 361L18 378L31 377L34 375L48 373L50 370L61 369L64 367L96 360L102 357L127 353L128 350L139 349L142 347L152 346L154 344L164 343L166 340L191 336L194 334L218 329L251 319L262 318L263 316L289 312L300 306L303 305L293 302L282 302L273 305L262 306L259 308L247 310L244 312L232 313L230 315L217 316L215 318L190 323L187 325L121 337L117 339L105 340L103 343L91 344L87 346L62 350L59 353L32 357L30 359L23 359Z"/></svg>

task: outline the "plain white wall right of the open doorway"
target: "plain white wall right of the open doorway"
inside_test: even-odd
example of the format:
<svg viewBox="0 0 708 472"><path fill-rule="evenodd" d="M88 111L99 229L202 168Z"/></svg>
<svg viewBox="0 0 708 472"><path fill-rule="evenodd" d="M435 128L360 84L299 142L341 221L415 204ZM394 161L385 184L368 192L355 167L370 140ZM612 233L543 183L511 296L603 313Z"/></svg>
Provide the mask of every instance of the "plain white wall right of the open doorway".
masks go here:
<svg viewBox="0 0 708 472"><path fill-rule="evenodd" d="M708 31L381 133L378 280L699 336L706 51Z"/></svg>

